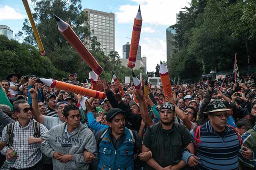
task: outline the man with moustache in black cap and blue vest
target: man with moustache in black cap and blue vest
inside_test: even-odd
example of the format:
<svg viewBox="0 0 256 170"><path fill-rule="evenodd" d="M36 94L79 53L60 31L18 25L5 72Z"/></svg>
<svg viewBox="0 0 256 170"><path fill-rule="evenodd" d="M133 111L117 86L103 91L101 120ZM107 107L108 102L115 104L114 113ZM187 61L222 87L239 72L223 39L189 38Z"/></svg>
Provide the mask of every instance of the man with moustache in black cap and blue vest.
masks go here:
<svg viewBox="0 0 256 170"><path fill-rule="evenodd" d="M109 128L95 135L99 144L98 169L134 169L133 150L141 149L142 137L125 127L124 114L119 108L111 109L106 116Z"/></svg>

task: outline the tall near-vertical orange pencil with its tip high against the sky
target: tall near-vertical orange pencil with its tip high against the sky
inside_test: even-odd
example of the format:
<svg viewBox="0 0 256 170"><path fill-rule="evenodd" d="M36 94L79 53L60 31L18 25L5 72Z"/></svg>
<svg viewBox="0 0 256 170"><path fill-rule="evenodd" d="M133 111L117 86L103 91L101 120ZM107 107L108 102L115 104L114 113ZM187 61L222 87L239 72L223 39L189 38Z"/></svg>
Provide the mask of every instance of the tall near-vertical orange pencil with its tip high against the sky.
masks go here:
<svg viewBox="0 0 256 170"><path fill-rule="evenodd" d="M132 40L130 45L128 67L134 68L136 62L136 55L138 51L140 41L140 31L142 26L142 17L140 13L140 6L136 17L134 18L133 29L132 29Z"/></svg>

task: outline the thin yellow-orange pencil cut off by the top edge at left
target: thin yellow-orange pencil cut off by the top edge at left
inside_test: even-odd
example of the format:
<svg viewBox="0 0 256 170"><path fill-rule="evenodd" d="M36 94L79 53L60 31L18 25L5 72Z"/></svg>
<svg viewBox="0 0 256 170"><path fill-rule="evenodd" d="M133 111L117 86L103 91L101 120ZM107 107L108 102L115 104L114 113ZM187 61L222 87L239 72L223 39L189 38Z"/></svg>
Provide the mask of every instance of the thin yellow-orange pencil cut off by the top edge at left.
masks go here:
<svg viewBox="0 0 256 170"><path fill-rule="evenodd" d="M39 36L39 34L38 34L38 30L37 30L37 28L36 28L36 24L35 24L35 22L34 22L34 18L33 18L32 14L31 14L31 11L30 11L30 8L29 8L29 5L28 5L28 1L27 1L27 0L22 0L22 2L23 2L23 5L24 5L24 7L25 7L25 10L26 10L26 12L27 12L27 14L28 14L28 19L29 19L30 24L31 24L31 26L32 26L32 30L33 30L33 32L34 32L34 35L35 35L35 37L36 37L36 41L37 41L39 50L40 50L40 52L41 52L41 55L44 56L44 55L45 55L44 47L43 47L41 38L40 38L40 36Z"/></svg>

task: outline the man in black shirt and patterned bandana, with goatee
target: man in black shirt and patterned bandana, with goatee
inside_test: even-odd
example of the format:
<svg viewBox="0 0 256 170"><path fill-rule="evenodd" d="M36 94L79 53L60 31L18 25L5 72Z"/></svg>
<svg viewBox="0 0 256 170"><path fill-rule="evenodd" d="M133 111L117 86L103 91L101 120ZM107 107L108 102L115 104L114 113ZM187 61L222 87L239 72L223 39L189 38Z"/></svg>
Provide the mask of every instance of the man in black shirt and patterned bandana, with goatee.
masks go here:
<svg viewBox="0 0 256 170"><path fill-rule="evenodd" d="M178 108L178 106L176 106ZM160 123L148 127L143 139L142 152L151 150L152 158L147 161L146 170L180 170L186 166L182 160L183 150L194 153L192 137L186 128L174 121L175 106L170 102L162 104ZM191 157L190 162L198 162Z"/></svg>

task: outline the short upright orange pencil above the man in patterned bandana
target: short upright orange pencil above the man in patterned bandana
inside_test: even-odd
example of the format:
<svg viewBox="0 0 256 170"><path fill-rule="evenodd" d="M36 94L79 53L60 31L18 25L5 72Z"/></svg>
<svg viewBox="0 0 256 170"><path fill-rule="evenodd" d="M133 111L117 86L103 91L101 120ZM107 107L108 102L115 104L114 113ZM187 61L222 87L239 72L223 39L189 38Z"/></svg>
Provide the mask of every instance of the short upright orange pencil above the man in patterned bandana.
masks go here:
<svg viewBox="0 0 256 170"><path fill-rule="evenodd" d="M164 96L172 96L172 86L170 82L169 71L165 68L162 62L160 62L159 75L164 90Z"/></svg>

